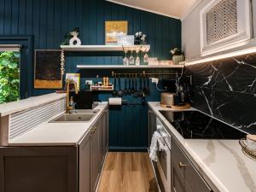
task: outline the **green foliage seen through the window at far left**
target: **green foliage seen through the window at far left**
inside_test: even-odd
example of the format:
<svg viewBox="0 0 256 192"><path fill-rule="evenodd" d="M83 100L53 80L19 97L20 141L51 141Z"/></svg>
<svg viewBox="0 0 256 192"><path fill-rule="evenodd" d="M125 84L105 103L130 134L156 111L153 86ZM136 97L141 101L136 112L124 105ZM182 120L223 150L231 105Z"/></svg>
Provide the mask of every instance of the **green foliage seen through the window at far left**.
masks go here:
<svg viewBox="0 0 256 192"><path fill-rule="evenodd" d="M0 52L0 103L20 99L20 53Z"/></svg>

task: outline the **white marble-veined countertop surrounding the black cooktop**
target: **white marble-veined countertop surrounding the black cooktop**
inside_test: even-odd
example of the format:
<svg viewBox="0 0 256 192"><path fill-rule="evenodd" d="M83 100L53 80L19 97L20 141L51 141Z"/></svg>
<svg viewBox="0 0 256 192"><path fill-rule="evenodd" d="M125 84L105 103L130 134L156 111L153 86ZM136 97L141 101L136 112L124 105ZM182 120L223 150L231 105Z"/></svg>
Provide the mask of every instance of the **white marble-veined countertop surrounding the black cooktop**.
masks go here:
<svg viewBox="0 0 256 192"><path fill-rule="evenodd" d="M256 161L242 153L238 140L184 139L159 112L159 102L148 105L213 191L256 192Z"/></svg>

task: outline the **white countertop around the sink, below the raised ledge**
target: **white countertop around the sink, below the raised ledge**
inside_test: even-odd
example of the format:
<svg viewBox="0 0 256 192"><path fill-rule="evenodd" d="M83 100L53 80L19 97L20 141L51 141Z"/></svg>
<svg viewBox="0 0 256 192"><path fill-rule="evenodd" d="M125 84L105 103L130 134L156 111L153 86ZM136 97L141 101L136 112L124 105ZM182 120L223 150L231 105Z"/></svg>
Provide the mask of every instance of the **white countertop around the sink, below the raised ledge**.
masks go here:
<svg viewBox="0 0 256 192"><path fill-rule="evenodd" d="M44 122L32 131L9 141L9 146L58 146L77 145L89 131L90 127L108 108L108 102L102 102L94 109L100 109L90 122L83 123L49 123ZM59 114L60 115L60 114ZM58 115L56 115L58 116ZM54 119L55 117L53 117Z"/></svg>

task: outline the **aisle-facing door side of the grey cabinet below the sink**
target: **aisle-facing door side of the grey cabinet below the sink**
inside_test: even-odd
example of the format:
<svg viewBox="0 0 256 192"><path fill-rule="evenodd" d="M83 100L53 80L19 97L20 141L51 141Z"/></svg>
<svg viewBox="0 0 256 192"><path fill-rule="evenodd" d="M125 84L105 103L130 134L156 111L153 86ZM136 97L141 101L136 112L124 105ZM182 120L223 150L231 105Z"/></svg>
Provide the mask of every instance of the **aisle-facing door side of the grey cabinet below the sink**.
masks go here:
<svg viewBox="0 0 256 192"><path fill-rule="evenodd" d="M96 191L108 150L106 119L108 110L90 128L90 134L79 143L79 192Z"/></svg>

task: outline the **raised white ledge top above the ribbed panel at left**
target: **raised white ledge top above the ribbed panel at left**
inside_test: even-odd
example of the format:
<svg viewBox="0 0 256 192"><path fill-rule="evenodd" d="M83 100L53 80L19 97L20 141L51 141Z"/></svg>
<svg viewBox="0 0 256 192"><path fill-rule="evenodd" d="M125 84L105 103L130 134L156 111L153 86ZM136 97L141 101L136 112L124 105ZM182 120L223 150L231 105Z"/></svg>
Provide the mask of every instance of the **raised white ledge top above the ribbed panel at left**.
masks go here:
<svg viewBox="0 0 256 192"><path fill-rule="evenodd" d="M55 100L65 97L64 93L50 93L43 96L32 96L24 100L17 102L8 102L0 104L0 116L5 116L11 113L20 112L22 110L33 108L38 105L45 104L47 102L53 102Z"/></svg>

